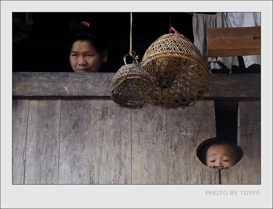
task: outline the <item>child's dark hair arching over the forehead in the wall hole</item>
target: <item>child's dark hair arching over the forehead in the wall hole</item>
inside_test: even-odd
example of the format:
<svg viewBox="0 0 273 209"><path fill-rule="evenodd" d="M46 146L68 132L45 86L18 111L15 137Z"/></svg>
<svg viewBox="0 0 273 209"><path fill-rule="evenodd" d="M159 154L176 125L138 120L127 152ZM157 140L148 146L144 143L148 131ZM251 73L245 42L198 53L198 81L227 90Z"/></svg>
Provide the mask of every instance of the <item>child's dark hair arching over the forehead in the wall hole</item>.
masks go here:
<svg viewBox="0 0 273 209"><path fill-rule="evenodd" d="M211 147L213 145L216 146L216 145L222 145L222 144L230 145L233 148L233 150L235 151L236 158L237 158L236 163L238 163L242 159L243 151L239 146L237 146L236 144L229 142L229 141L216 140L216 141L207 143L205 145L205 148L203 149L202 154L201 154L201 156L202 156L200 159L201 162L203 164L206 164L206 155L207 155L207 151L208 151L209 147Z"/></svg>

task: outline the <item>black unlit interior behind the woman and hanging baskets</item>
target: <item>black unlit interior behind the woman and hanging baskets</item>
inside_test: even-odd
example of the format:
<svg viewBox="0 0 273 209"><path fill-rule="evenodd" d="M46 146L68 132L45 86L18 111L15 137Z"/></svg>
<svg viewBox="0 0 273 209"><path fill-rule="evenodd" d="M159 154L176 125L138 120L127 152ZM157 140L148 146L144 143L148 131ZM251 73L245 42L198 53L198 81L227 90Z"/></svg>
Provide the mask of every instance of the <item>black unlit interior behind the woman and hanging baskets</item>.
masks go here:
<svg viewBox="0 0 273 209"><path fill-rule="evenodd" d="M64 40L66 25L72 19L90 23L105 36L109 57L101 72L119 70L124 65L123 57L130 52L130 12L33 12L32 19L29 37L12 43L13 72L72 72ZM158 37L169 33L171 25L193 41L192 14L132 13L132 51L139 62ZM13 26L13 32L18 27Z"/></svg>

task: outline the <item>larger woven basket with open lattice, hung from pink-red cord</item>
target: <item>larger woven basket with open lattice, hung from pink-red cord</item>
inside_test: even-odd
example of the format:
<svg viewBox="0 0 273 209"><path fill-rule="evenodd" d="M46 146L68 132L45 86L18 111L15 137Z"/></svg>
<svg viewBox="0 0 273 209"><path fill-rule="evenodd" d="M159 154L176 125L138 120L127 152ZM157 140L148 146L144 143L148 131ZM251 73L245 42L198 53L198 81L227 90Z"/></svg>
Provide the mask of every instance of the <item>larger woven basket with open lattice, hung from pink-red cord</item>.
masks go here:
<svg viewBox="0 0 273 209"><path fill-rule="evenodd" d="M181 34L165 34L146 50L140 66L153 80L150 105L185 108L204 99L210 78L199 49Z"/></svg>

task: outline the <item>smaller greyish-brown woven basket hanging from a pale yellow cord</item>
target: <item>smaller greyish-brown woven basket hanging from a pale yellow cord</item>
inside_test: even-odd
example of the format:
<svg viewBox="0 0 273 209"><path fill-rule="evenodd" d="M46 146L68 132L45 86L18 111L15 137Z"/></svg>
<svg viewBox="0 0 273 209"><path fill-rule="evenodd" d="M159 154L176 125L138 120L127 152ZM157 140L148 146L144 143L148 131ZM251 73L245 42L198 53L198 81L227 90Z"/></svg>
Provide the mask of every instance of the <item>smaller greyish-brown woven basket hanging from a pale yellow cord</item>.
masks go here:
<svg viewBox="0 0 273 209"><path fill-rule="evenodd" d="M154 95L154 84L149 74L141 68L133 57L132 64L122 66L114 75L111 83L111 98L121 107L141 109L150 103Z"/></svg>

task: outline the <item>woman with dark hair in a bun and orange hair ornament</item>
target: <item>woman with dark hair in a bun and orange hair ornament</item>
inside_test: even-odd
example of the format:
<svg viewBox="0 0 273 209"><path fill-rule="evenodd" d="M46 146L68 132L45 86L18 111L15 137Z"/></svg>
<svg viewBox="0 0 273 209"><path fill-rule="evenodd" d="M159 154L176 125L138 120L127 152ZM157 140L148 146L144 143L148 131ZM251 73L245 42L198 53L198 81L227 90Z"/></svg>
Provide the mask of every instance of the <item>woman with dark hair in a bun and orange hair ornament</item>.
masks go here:
<svg viewBox="0 0 273 209"><path fill-rule="evenodd" d="M94 35L94 32L91 34L86 22L78 24L73 20L69 28L70 33L74 35L68 45L72 69L79 73L99 72L102 63L108 58L105 41Z"/></svg>

